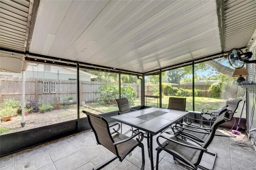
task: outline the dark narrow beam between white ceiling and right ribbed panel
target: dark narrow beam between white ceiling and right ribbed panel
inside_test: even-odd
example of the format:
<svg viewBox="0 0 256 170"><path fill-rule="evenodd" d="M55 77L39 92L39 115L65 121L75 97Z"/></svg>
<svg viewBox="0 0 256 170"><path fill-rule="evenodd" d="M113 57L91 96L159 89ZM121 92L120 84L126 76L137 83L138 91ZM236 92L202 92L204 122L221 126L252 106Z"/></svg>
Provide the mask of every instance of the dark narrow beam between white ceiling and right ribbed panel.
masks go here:
<svg viewBox="0 0 256 170"><path fill-rule="evenodd" d="M218 16L218 27L220 32L220 46L221 52L223 53L225 50L225 6L224 0L216 0L216 9L217 9L217 16ZM223 54L222 54L223 56Z"/></svg>

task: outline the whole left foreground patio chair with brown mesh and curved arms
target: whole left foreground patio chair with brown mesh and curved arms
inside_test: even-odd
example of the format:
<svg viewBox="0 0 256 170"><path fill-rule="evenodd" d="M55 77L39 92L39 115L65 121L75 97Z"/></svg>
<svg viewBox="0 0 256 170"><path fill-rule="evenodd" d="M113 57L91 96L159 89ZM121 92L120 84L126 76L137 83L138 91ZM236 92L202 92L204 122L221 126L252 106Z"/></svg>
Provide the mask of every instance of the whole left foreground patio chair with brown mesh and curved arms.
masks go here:
<svg viewBox="0 0 256 170"><path fill-rule="evenodd" d="M93 113L82 111L85 113L88 117L88 121L90 124L90 127L92 128L97 144L103 145L105 148L110 150L112 153L116 154L113 158L110 158L106 162L102 163L96 168L93 168L93 170L98 170L105 166L106 164L112 162L114 159L119 158L120 162L124 160L124 158L132 152L137 146L141 148L142 152L142 166L141 170L144 170L145 166L145 156L144 156L144 145L142 143L142 140L144 138L144 135L142 132L138 132L130 137L119 133L118 130L120 130L120 125L118 123L115 123L114 125L109 126L108 121L104 119L102 116L95 115ZM118 129L114 129L114 132L110 133L109 128L114 127L118 125ZM113 135L114 134L114 135ZM112 136L113 135L113 136ZM141 136L133 139L136 136Z"/></svg>

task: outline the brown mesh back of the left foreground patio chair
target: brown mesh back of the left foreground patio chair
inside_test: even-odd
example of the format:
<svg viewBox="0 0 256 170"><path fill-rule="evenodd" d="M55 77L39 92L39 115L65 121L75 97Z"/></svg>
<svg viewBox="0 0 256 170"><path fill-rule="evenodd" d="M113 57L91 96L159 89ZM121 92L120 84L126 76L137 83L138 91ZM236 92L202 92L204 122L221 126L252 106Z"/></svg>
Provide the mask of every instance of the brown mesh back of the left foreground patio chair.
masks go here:
<svg viewBox="0 0 256 170"><path fill-rule="evenodd" d="M95 134L98 144L102 144L108 150L116 154L116 150L113 145L114 140L110 134L110 130L108 127L108 121L102 116L95 115L87 111L82 112L87 115L89 124Z"/></svg>

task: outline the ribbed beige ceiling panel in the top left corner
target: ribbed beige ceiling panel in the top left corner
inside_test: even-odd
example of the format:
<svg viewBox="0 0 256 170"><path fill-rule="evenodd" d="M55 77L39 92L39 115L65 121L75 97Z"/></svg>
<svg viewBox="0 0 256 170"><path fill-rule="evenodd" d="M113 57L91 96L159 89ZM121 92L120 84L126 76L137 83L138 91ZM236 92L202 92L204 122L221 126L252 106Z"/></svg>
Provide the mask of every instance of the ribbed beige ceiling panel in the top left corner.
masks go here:
<svg viewBox="0 0 256 170"><path fill-rule="evenodd" d="M33 2L30 6L28 0L0 0L0 47L25 52Z"/></svg>

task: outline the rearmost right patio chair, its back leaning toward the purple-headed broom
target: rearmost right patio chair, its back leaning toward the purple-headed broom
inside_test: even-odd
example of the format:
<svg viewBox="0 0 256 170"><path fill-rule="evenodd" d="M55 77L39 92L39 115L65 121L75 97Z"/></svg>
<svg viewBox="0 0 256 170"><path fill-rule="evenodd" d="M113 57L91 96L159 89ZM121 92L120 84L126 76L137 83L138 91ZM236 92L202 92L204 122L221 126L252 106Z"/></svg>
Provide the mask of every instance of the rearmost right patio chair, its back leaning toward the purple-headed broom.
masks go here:
<svg viewBox="0 0 256 170"><path fill-rule="evenodd" d="M202 112L204 113L204 114L202 115L202 117L203 117L204 119L206 119L207 121L213 121L213 120L215 120L215 119L218 117L218 114L219 114L223 109L225 109L225 108L227 108L227 109L230 110L231 112L235 112L236 109L238 108L239 103L240 103L241 101L242 101L242 99L232 99L232 98L230 98L230 99L228 99L228 100L226 101L226 105L225 105L224 107L220 108L220 109L205 108L205 109L202 110ZM214 112L211 112L211 113L210 113L210 111L212 111L212 110L214 110ZM210 127L211 127L211 125L212 125L212 123L210 122Z"/></svg>

